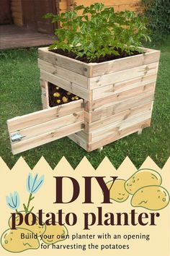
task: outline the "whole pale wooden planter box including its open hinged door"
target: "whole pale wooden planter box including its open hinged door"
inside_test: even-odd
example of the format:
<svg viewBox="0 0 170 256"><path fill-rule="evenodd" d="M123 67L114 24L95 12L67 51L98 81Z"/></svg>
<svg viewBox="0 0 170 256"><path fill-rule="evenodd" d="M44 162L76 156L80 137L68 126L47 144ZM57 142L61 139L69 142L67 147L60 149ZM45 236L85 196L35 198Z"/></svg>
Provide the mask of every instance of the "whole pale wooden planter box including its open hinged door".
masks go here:
<svg viewBox="0 0 170 256"><path fill-rule="evenodd" d="M90 152L149 127L160 51L144 51L138 56L86 64L39 48L44 110L7 121L12 152L65 136ZM50 108L49 82L82 99Z"/></svg>

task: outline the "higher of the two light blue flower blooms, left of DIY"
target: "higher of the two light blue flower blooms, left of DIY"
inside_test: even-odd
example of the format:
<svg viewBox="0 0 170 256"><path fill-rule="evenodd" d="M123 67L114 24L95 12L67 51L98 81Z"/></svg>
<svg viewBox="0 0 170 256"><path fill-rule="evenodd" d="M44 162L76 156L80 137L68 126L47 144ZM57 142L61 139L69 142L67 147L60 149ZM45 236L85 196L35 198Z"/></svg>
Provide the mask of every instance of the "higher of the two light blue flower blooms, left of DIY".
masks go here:
<svg viewBox="0 0 170 256"><path fill-rule="evenodd" d="M38 174L36 174L35 177L32 177L32 174L29 174L27 177L27 191L30 194L35 194L44 182L44 175L41 176L40 179L38 179L37 176Z"/></svg>

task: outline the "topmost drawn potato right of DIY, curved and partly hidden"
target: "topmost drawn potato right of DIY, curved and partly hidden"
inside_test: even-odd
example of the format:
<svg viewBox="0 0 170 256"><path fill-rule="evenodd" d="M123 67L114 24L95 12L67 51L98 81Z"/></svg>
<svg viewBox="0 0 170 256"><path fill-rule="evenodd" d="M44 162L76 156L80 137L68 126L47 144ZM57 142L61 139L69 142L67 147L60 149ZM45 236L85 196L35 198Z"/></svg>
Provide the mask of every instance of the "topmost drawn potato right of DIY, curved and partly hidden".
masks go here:
<svg viewBox="0 0 170 256"><path fill-rule="evenodd" d="M140 189L140 187L152 185L159 186L161 183L161 175L158 174L157 171L143 168L135 172L135 174L128 179L128 181L125 183L125 189L128 191L128 193L133 195L138 189Z"/></svg>

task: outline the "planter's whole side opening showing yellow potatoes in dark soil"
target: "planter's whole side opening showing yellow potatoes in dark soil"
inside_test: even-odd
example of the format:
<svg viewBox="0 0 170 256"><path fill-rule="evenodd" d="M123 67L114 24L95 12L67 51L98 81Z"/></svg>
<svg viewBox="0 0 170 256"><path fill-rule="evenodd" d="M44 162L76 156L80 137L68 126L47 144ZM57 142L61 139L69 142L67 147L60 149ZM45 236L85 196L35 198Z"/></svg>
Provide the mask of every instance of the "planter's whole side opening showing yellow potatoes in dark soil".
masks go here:
<svg viewBox="0 0 170 256"><path fill-rule="evenodd" d="M48 82L48 98L50 107L63 105L81 99L79 96L58 87L51 82Z"/></svg>

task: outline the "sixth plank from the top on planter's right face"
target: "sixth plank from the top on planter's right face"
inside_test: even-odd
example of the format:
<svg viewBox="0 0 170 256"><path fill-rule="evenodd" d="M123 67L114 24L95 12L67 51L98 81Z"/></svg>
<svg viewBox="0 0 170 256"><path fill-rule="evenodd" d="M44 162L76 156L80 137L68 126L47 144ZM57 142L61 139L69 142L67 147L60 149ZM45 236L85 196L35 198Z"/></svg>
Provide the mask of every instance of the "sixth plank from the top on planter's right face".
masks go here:
<svg viewBox="0 0 170 256"><path fill-rule="evenodd" d="M130 119L132 116L136 116L138 114L142 114L146 111L152 110L153 101L145 103L143 105L135 106L134 108L127 108L125 111L121 111L117 114L113 114L112 116L107 116L104 119L100 119L99 121L95 121L91 124L86 124L86 132L97 131L97 129L102 129L108 125L117 124L117 122L123 121L125 119Z"/></svg>

